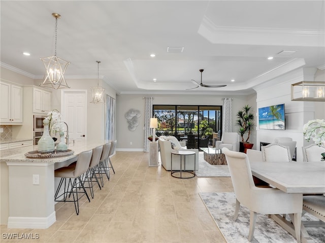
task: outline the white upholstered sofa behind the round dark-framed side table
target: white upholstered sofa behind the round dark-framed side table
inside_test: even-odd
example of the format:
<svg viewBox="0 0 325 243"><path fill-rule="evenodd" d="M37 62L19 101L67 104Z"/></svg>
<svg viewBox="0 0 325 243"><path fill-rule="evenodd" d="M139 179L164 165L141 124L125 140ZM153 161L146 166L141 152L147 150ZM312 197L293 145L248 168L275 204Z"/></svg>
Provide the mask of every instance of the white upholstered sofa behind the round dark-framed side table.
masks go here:
<svg viewBox="0 0 325 243"><path fill-rule="evenodd" d="M160 148L160 159L161 165L165 168L165 170L170 171L171 168L171 155L172 155L172 143L174 143L177 148L181 150L187 149L185 146L185 142L179 142L176 137L173 136L160 136L158 139L159 148ZM196 158L196 165L195 170L199 170L199 149L189 149L191 151L195 151L195 158ZM173 154L173 170L180 169L180 161L181 156ZM182 169L184 168L184 159L182 158ZM194 156L187 155L186 156L186 171L193 171L194 170Z"/></svg>

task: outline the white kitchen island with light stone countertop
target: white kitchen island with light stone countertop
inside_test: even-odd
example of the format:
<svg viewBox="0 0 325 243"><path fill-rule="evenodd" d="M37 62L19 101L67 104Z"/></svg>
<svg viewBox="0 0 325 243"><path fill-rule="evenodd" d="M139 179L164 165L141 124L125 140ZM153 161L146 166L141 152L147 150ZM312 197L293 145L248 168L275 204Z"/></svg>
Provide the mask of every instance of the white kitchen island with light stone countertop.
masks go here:
<svg viewBox="0 0 325 243"><path fill-rule="evenodd" d="M52 158L27 158L25 153L37 150L37 145L1 151L1 224L8 228L50 227L56 221L54 170L107 142L76 141L68 147L74 151L72 155ZM38 175L38 183L34 175Z"/></svg>

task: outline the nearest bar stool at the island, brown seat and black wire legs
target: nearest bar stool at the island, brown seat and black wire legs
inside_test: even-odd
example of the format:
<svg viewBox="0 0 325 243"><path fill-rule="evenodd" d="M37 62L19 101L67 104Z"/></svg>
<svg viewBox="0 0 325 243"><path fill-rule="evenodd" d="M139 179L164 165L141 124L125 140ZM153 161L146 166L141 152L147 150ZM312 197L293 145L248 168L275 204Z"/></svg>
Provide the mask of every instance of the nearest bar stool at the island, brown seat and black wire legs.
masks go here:
<svg viewBox="0 0 325 243"><path fill-rule="evenodd" d="M69 166L62 167L54 171L54 177L61 178L59 186L54 195L54 201L71 201L71 202L73 201L75 203L75 209L77 215L79 215L79 199L83 195L86 195L88 201L90 202L86 189L83 186L83 181L81 179L81 176L88 171L91 155L92 155L92 150L81 152L78 156L76 167L69 167ZM67 184L67 179L69 179L68 184ZM63 182L64 182L64 191L63 193L58 195L63 185ZM79 188L82 188L83 191L78 192ZM81 197L79 197L78 193L84 193L84 194ZM73 200L68 200L68 197L70 198L71 194L73 195ZM61 196L63 196L63 200L58 199Z"/></svg>

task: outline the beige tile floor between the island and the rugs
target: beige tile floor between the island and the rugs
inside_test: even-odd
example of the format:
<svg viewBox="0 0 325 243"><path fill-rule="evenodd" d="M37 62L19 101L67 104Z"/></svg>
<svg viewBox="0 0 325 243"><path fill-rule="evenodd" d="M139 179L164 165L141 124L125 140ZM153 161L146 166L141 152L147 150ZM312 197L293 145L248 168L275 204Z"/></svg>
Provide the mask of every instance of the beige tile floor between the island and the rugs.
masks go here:
<svg viewBox="0 0 325 243"><path fill-rule="evenodd" d="M73 203L55 206L48 229L7 229L1 242L225 242L199 192L233 191L230 177L177 179L160 165L148 167L148 153L116 152L115 175L83 197L79 216ZM105 177L106 178L106 177ZM5 239L9 233L38 239Z"/></svg>

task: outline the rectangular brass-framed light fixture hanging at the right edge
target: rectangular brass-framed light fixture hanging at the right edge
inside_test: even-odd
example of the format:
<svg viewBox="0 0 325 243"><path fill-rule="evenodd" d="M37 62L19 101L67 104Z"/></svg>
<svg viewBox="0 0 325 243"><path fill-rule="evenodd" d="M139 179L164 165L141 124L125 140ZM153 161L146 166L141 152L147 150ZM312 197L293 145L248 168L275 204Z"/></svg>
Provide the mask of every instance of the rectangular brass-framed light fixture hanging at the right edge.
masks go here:
<svg viewBox="0 0 325 243"><path fill-rule="evenodd" d="M291 85L293 101L325 101L325 82L302 81Z"/></svg>

